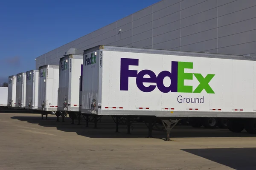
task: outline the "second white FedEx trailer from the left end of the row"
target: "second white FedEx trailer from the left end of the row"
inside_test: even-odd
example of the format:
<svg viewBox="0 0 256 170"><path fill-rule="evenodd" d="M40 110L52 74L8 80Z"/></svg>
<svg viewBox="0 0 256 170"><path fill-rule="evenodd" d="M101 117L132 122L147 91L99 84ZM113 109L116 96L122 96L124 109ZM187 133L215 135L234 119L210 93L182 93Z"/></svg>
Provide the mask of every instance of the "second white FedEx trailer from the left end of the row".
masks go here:
<svg viewBox="0 0 256 170"><path fill-rule="evenodd" d="M26 106L26 73L17 74L16 78L16 107Z"/></svg>

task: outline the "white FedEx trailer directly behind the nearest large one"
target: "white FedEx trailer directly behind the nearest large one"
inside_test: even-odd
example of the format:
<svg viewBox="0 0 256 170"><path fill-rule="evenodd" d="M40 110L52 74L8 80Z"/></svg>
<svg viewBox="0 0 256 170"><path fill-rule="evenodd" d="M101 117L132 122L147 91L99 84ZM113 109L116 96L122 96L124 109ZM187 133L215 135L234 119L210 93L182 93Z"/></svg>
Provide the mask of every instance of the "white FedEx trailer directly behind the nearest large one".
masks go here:
<svg viewBox="0 0 256 170"><path fill-rule="evenodd" d="M58 111L64 116L69 114L72 122L79 112L79 77L82 55L68 54L60 59L58 85Z"/></svg>

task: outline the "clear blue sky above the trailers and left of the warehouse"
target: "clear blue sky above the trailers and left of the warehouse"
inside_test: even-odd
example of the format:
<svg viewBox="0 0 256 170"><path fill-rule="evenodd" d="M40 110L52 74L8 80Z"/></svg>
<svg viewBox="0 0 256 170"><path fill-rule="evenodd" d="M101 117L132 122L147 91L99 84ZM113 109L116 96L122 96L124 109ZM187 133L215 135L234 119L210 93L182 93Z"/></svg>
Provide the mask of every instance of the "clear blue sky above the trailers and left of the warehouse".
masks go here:
<svg viewBox="0 0 256 170"><path fill-rule="evenodd" d="M0 0L0 84L35 69L36 57L159 1Z"/></svg>

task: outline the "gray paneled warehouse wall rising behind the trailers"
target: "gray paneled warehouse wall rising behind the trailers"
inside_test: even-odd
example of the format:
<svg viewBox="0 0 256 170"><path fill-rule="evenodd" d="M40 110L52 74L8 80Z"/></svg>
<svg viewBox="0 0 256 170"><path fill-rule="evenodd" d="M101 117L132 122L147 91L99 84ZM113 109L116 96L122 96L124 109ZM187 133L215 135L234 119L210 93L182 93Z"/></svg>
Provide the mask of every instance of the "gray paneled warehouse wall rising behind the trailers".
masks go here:
<svg viewBox="0 0 256 170"><path fill-rule="evenodd" d="M37 57L36 68L96 45L253 55L256 0L162 0Z"/></svg>

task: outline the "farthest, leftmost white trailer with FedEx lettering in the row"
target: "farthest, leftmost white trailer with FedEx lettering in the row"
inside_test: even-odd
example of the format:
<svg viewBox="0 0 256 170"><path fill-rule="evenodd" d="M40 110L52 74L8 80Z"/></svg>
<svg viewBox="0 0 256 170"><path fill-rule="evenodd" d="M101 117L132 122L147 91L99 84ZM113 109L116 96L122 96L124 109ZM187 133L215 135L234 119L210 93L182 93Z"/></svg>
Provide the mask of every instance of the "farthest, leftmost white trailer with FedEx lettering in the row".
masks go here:
<svg viewBox="0 0 256 170"><path fill-rule="evenodd" d="M9 76L8 84L8 108L16 105L16 76Z"/></svg>

